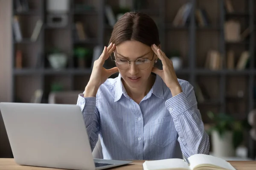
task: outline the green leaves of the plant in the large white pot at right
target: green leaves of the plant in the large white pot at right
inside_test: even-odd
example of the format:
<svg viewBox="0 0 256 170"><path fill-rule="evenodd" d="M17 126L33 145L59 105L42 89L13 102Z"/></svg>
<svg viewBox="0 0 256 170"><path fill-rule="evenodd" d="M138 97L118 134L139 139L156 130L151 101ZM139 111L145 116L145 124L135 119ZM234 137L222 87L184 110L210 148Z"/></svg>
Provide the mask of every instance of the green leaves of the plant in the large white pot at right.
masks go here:
<svg viewBox="0 0 256 170"><path fill-rule="evenodd" d="M214 114L211 111L207 112L207 116L212 120L210 128L207 133L210 135L213 130L217 131L222 138L225 132L233 133L233 147L238 147L244 139L244 130L246 130L250 125L248 125L247 120L235 120L233 116L228 114L219 113Z"/></svg>

